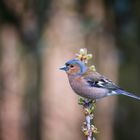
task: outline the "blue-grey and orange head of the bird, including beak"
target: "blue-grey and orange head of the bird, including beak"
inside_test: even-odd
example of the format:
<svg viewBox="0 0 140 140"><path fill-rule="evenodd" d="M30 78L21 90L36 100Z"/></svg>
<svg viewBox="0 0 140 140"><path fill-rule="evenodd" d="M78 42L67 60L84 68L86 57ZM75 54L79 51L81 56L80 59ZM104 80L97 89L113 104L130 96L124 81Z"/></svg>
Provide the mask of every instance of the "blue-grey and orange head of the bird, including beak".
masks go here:
<svg viewBox="0 0 140 140"><path fill-rule="evenodd" d="M85 63L78 59L69 60L60 68L60 70L66 71L69 75L82 75L87 71L87 69L88 68Z"/></svg>

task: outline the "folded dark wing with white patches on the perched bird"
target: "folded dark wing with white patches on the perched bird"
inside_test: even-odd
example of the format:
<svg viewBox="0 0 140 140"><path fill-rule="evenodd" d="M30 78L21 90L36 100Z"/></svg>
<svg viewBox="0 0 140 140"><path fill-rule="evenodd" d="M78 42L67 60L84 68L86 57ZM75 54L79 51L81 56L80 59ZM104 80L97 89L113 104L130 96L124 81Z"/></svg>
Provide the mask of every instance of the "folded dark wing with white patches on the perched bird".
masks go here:
<svg viewBox="0 0 140 140"><path fill-rule="evenodd" d="M111 80L107 79L97 72L91 73L90 75L86 76L85 80L91 87L106 88L108 90L119 89L119 87L115 85Z"/></svg>

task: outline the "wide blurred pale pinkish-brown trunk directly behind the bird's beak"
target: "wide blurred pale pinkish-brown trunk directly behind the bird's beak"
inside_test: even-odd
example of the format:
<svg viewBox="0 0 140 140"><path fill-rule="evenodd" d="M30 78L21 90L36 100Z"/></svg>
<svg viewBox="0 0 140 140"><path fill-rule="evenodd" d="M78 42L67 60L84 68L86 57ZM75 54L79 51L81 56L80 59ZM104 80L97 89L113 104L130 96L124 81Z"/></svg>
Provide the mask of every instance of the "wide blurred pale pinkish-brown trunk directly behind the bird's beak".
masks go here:
<svg viewBox="0 0 140 140"><path fill-rule="evenodd" d="M53 4L53 15L44 34L48 48L43 51L42 138L81 140L82 113L77 95L58 68L78 47L84 47L82 28L74 11L75 0L54 0Z"/></svg>

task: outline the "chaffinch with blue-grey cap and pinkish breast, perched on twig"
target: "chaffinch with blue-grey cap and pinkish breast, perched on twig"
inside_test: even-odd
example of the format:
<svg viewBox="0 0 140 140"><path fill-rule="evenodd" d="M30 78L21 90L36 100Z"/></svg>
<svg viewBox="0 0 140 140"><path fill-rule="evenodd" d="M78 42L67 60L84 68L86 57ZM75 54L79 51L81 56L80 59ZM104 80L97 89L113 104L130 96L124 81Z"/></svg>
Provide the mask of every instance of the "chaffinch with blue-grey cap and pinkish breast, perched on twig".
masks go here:
<svg viewBox="0 0 140 140"><path fill-rule="evenodd" d="M66 62L60 70L67 73L72 89L80 96L96 100L112 95L126 95L140 100L140 97L124 91L98 72L91 71L79 59Z"/></svg>

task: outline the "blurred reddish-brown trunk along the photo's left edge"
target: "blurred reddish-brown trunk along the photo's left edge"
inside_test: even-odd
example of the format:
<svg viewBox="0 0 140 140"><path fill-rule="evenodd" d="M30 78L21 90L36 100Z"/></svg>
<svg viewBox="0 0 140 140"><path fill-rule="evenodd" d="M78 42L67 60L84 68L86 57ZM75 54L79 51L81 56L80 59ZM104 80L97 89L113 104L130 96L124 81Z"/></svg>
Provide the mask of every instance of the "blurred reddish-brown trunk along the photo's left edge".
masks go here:
<svg viewBox="0 0 140 140"><path fill-rule="evenodd" d="M22 88L20 79L20 61L17 53L18 34L10 25L0 32L2 46L1 73L3 97L1 102L2 140L23 140L21 128Z"/></svg>

